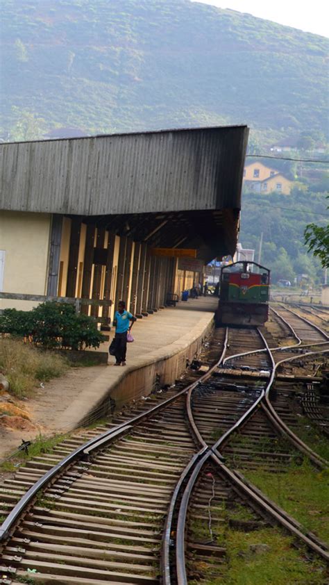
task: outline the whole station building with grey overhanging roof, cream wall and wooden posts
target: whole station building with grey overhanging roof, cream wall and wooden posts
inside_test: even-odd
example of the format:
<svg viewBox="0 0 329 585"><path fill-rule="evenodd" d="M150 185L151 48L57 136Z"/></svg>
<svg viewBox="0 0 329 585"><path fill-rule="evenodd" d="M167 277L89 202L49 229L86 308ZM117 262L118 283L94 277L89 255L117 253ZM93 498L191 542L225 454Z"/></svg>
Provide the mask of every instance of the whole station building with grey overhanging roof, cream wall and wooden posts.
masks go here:
<svg viewBox="0 0 329 585"><path fill-rule="evenodd" d="M119 299L140 316L165 306L235 252L247 140L228 126L0 145L0 308L28 310L28 295L112 301L85 308L103 318Z"/></svg>

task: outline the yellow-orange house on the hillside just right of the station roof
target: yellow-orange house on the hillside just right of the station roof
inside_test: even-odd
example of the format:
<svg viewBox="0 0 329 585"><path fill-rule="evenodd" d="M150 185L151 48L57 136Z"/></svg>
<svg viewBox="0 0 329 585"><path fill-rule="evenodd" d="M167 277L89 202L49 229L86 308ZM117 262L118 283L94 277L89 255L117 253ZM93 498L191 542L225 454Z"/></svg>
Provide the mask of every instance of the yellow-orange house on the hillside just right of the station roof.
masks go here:
<svg viewBox="0 0 329 585"><path fill-rule="evenodd" d="M278 191L283 195L289 195L293 185L284 174L263 163L251 163L244 168L244 183L257 193Z"/></svg>

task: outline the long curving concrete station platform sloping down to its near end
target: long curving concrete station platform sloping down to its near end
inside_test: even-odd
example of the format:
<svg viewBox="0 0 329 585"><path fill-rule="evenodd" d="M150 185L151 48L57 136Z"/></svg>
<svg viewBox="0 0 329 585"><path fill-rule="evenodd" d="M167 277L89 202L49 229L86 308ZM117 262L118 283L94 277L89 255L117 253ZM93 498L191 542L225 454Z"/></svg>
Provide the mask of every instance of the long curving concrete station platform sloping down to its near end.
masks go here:
<svg viewBox="0 0 329 585"><path fill-rule="evenodd" d="M172 384L198 354L213 323L216 297L179 302L137 320L134 343L127 346L127 365L71 368L37 391L29 405L42 434L69 431L101 418L110 409L149 394L155 384ZM110 338L114 335L111 331ZM108 351L109 342L99 348Z"/></svg>

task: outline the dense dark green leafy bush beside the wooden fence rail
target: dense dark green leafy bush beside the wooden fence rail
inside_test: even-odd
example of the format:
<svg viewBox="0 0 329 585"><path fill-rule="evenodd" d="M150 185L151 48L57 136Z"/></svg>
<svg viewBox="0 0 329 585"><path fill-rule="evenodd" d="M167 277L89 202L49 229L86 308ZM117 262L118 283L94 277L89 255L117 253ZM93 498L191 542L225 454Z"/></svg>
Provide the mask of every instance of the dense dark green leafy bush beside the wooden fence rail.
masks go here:
<svg viewBox="0 0 329 585"><path fill-rule="evenodd" d="M0 315L0 332L29 336L35 345L48 349L96 348L104 339L92 318L77 314L70 304L57 302L42 303L28 312L6 308Z"/></svg>

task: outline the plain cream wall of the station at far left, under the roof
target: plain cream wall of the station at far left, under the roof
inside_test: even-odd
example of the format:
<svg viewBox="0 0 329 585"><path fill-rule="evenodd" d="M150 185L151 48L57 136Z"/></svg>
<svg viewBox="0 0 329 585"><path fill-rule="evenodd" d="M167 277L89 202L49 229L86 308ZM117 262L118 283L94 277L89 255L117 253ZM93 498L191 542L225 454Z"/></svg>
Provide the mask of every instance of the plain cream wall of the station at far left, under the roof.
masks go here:
<svg viewBox="0 0 329 585"><path fill-rule="evenodd" d="M51 215L0 211L3 293L47 293ZM0 299L0 308L28 311L37 302Z"/></svg>

